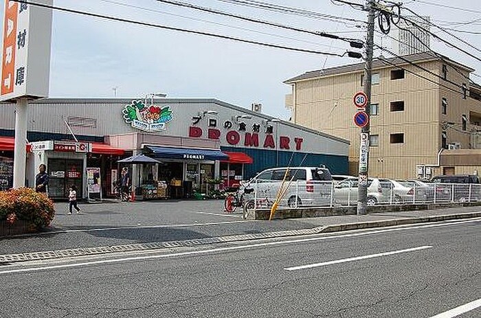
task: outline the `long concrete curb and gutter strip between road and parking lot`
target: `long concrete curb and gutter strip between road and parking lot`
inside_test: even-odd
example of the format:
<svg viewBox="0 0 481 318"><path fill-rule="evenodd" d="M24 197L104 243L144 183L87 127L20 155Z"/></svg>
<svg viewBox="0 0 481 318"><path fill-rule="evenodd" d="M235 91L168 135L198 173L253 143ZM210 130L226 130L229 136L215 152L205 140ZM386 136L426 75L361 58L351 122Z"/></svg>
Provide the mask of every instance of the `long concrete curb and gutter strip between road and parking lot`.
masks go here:
<svg viewBox="0 0 481 318"><path fill-rule="evenodd" d="M175 247L197 247L226 242L240 242L247 240L260 240L265 238L283 238L289 236L312 235L321 233L332 233L336 231L349 231L354 229L369 229L373 227L393 227L396 225L407 225L414 223L440 222L443 220L460 220L465 218L481 217L481 212L469 212L461 214L446 214L438 216L426 216L421 218L399 218L392 220L345 223L339 225L328 225L325 227L313 227L311 229L298 229L289 231L276 231L258 234L241 234L234 236L219 236L214 238L199 238L194 240L177 240L169 242L151 242L131 245L115 245L104 247L86 247L80 249L63 249L57 251L40 251L32 253L17 253L0 255L1 263L27 262L32 260L52 260L56 258L69 258L86 255L106 255L127 251L146 251L153 249L171 249Z"/></svg>

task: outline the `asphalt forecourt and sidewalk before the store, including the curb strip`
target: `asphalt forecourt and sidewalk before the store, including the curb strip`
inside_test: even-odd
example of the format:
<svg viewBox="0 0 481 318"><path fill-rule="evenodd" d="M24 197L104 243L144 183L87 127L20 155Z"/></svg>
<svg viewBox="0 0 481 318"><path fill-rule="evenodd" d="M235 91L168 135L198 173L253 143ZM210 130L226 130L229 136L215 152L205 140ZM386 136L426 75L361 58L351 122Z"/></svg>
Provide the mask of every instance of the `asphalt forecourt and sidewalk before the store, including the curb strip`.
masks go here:
<svg viewBox="0 0 481 318"><path fill-rule="evenodd" d="M481 207L456 207L364 216L248 221L240 214L220 212L222 205L221 201L85 205L85 214L59 214L52 231L1 240L0 262L1 255L6 254L50 251L42 255L54 258L54 251L69 250L72 255L112 253L429 222L434 216L438 216L436 220L481 217Z"/></svg>

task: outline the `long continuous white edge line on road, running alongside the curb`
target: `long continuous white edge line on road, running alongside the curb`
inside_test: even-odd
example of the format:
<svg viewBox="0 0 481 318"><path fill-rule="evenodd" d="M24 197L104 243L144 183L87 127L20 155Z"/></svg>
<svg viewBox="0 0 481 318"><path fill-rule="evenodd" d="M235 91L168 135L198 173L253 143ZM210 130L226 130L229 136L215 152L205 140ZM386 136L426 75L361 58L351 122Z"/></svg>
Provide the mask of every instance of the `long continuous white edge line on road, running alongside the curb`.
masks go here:
<svg viewBox="0 0 481 318"><path fill-rule="evenodd" d="M302 242L315 242L320 240L333 240L336 238L352 238L356 236L367 236L370 234L382 234L387 232L394 232L394 231L409 231L412 229L424 229L429 227L445 227L451 225L460 225L465 223L473 223L473 222L480 222L481 218L476 220L466 220L460 221L456 223L442 223L442 224L431 224L431 225L420 225L416 227L401 227L396 229L381 229L377 231L366 231L361 233L352 233L352 234L342 234L336 236L321 236L315 238L300 238L296 240L282 240L276 242L266 242L266 243L258 243L252 245L240 245L234 247L221 247L219 249L204 249L200 251L188 251L188 252L181 252L181 253L172 253L172 254L162 254L162 255L148 255L148 256L135 256L131 258L117 258L113 260L99 260L99 261L91 261L91 262L81 262L76 264L63 264L63 265L53 265L53 266L43 266L43 267L34 267L28 269L12 269L10 271L0 271L1 274L11 274L11 273L25 273L25 272L34 272L34 271L45 271L49 269L68 269L72 267L81 267L81 266L91 266L91 265L98 265L98 264L113 264L113 263L120 263L120 262L128 262L128 261L139 261L139 260L155 260L160 258L175 258L178 256L186 256L186 255L201 255L207 253L216 253L221 251L236 251L236 250L243 250L243 249L254 249L258 247L267 247L267 246L276 246L276 245L287 245L287 244L294 244L294 243L302 243Z"/></svg>

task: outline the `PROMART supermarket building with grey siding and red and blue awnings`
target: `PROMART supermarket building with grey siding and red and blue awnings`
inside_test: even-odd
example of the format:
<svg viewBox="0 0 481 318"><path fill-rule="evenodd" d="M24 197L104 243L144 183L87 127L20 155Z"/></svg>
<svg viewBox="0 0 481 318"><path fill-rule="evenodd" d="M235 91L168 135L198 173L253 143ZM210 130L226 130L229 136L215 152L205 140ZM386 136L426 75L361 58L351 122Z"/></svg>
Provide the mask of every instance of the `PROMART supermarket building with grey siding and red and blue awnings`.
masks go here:
<svg viewBox="0 0 481 318"><path fill-rule="evenodd" d="M0 189L12 185L14 105L0 105ZM161 161L133 165L133 185L166 181L170 196L238 185L276 166L325 165L348 172L349 141L214 99L54 99L30 102L26 184L47 165L49 196L75 184L91 190L97 168L103 196L120 177L119 159L144 153ZM219 187L217 187L219 188Z"/></svg>

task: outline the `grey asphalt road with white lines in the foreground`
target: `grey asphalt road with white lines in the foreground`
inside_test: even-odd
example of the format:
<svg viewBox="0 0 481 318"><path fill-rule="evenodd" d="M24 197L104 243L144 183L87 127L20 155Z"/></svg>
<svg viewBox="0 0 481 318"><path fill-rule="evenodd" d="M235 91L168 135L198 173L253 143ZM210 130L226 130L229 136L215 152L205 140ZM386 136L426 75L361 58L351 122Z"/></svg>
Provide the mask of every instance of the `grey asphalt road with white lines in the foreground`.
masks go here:
<svg viewBox="0 0 481 318"><path fill-rule="evenodd" d="M480 233L472 219L4 265L0 316L429 318L481 299Z"/></svg>

